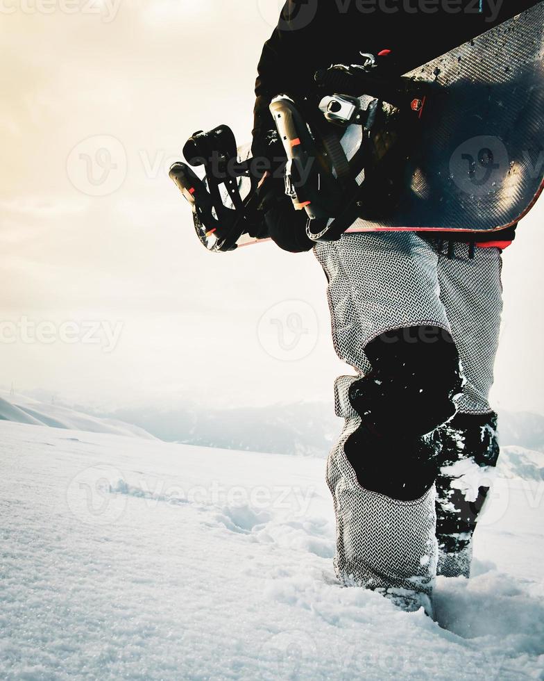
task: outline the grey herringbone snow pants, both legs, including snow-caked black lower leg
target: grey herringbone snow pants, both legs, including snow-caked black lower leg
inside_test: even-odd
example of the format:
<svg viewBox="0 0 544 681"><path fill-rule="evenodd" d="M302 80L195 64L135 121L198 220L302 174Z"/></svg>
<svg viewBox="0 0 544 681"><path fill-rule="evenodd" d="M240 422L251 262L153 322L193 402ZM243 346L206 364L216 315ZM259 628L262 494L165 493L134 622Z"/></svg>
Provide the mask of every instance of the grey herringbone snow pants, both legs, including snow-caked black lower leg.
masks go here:
<svg viewBox="0 0 544 681"><path fill-rule="evenodd" d="M314 252L328 279L335 350L357 372L339 377L335 385L337 415L345 423L327 466L337 520L337 576L343 584L430 594L437 571L468 576L473 531L498 458L488 395L502 313L500 249L462 243L452 249L416 233L383 232L346 234L337 242L318 243ZM372 411L371 403L367 411L355 408L352 387L373 374L366 350L375 339L426 327L442 329L454 341L464 382L454 397L453 418L432 423L430 432L427 424L419 434L422 442L434 443L434 484L418 498L393 498L366 489L353 454L350 460L346 456L346 443ZM428 346L421 341L423 356L428 347L434 361L432 340ZM432 370L425 376L429 381ZM391 447L398 443L393 434L403 409L409 414L413 404L397 398L390 413ZM372 437L359 438L356 456L362 461L383 456L389 434L382 431L379 450ZM396 454L398 461L404 456ZM384 470L381 475L387 476Z"/></svg>

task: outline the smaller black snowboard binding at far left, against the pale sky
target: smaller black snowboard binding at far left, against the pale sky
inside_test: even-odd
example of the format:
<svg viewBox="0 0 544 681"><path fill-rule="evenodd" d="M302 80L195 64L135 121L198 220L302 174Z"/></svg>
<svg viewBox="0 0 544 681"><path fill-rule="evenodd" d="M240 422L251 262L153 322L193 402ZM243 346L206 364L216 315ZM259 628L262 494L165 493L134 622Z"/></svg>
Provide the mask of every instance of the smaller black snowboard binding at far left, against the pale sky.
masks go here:
<svg viewBox="0 0 544 681"><path fill-rule="evenodd" d="M262 179L251 172L248 154L240 158L228 126L194 133L183 156L187 163L174 163L169 176L191 205L196 235L209 251L232 251L267 236L258 192ZM203 177L189 166L201 167Z"/></svg>

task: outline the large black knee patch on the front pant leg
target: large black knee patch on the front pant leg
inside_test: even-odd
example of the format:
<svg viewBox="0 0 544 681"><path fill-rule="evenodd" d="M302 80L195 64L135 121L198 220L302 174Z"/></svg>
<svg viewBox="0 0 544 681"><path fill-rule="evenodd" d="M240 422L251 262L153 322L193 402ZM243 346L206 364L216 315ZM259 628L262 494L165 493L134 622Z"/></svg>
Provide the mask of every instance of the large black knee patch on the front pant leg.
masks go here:
<svg viewBox="0 0 544 681"><path fill-rule="evenodd" d="M395 499L419 498L439 470L434 431L455 413L463 379L450 334L406 327L365 348L373 370L350 386L361 425L344 450L359 484Z"/></svg>

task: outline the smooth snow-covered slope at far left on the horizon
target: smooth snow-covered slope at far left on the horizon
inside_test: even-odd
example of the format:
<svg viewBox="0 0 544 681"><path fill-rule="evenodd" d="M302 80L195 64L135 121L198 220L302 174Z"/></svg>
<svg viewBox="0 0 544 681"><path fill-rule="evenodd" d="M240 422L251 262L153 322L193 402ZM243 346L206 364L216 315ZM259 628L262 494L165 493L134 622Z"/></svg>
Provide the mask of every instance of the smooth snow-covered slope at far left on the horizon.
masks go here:
<svg viewBox="0 0 544 681"><path fill-rule="evenodd" d="M47 404L26 395L10 395L2 390L0 390L0 420L154 439L154 436L143 428L115 418L90 416L59 404Z"/></svg>

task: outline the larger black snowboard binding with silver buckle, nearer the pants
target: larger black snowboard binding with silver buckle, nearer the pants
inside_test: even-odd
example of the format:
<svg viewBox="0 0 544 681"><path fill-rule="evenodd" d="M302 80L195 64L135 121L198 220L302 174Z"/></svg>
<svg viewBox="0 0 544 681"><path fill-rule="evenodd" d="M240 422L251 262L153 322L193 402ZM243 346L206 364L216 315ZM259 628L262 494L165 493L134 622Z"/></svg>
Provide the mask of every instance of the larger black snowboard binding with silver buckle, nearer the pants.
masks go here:
<svg viewBox="0 0 544 681"><path fill-rule="evenodd" d="M375 58L363 56L364 65L316 73L317 107L288 95L270 105L287 155L285 192L306 211L314 241L337 240L357 218L391 210L425 108L422 85L377 78Z"/></svg>

